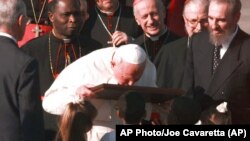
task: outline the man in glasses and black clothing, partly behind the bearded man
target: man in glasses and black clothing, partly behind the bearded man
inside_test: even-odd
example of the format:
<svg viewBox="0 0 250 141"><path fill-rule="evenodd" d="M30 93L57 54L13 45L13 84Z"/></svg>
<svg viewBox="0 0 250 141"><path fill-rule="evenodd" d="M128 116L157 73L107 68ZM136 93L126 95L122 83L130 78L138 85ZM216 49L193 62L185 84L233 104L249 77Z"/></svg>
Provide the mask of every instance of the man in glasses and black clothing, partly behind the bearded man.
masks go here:
<svg viewBox="0 0 250 141"><path fill-rule="evenodd" d="M207 29L207 0L186 0L183 19L188 36L163 45L154 64L157 68L159 87L180 88L183 79L186 51L193 34Z"/></svg>

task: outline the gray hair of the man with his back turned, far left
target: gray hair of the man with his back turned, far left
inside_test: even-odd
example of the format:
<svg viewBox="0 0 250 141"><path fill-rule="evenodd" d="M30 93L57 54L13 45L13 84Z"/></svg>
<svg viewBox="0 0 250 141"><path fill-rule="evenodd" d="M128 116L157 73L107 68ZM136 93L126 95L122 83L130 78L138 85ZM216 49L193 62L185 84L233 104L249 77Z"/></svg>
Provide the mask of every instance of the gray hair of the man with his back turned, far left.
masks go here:
<svg viewBox="0 0 250 141"><path fill-rule="evenodd" d="M27 15L23 0L0 0L0 26L11 27L20 15Z"/></svg>

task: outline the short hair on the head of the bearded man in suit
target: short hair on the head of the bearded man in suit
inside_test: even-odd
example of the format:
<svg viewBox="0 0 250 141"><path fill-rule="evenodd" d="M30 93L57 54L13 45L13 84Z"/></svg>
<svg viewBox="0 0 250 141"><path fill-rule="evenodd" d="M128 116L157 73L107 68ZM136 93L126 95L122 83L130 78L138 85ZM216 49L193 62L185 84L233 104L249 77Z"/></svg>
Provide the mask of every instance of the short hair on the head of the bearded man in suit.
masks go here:
<svg viewBox="0 0 250 141"><path fill-rule="evenodd" d="M241 10L240 0L209 0L209 2L215 2L218 4L228 4L229 5L228 12L231 17L240 13L240 10Z"/></svg>

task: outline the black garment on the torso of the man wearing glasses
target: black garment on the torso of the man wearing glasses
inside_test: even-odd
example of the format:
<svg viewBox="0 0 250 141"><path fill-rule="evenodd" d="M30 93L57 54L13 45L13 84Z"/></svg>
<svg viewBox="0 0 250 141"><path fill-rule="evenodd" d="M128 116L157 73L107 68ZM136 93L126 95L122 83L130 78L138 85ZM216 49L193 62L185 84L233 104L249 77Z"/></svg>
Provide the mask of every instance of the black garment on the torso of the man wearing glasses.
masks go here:
<svg viewBox="0 0 250 141"><path fill-rule="evenodd" d="M163 45L155 57L157 68L157 86L165 88L181 88L184 75L187 37Z"/></svg>

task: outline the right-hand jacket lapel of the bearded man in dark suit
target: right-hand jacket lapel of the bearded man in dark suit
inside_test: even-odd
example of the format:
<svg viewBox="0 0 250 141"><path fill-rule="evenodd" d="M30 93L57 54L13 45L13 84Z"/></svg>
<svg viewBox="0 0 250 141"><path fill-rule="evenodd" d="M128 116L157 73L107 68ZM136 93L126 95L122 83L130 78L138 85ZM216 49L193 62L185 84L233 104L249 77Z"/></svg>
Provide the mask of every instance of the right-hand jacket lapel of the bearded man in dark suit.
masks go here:
<svg viewBox="0 0 250 141"><path fill-rule="evenodd" d="M239 31L233 41L231 42L227 52L222 58L211 83L208 88L208 93L212 96L215 95L218 90L224 84L224 81L237 69L242 63L239 59L241 50L241 31Z"/></svg>

